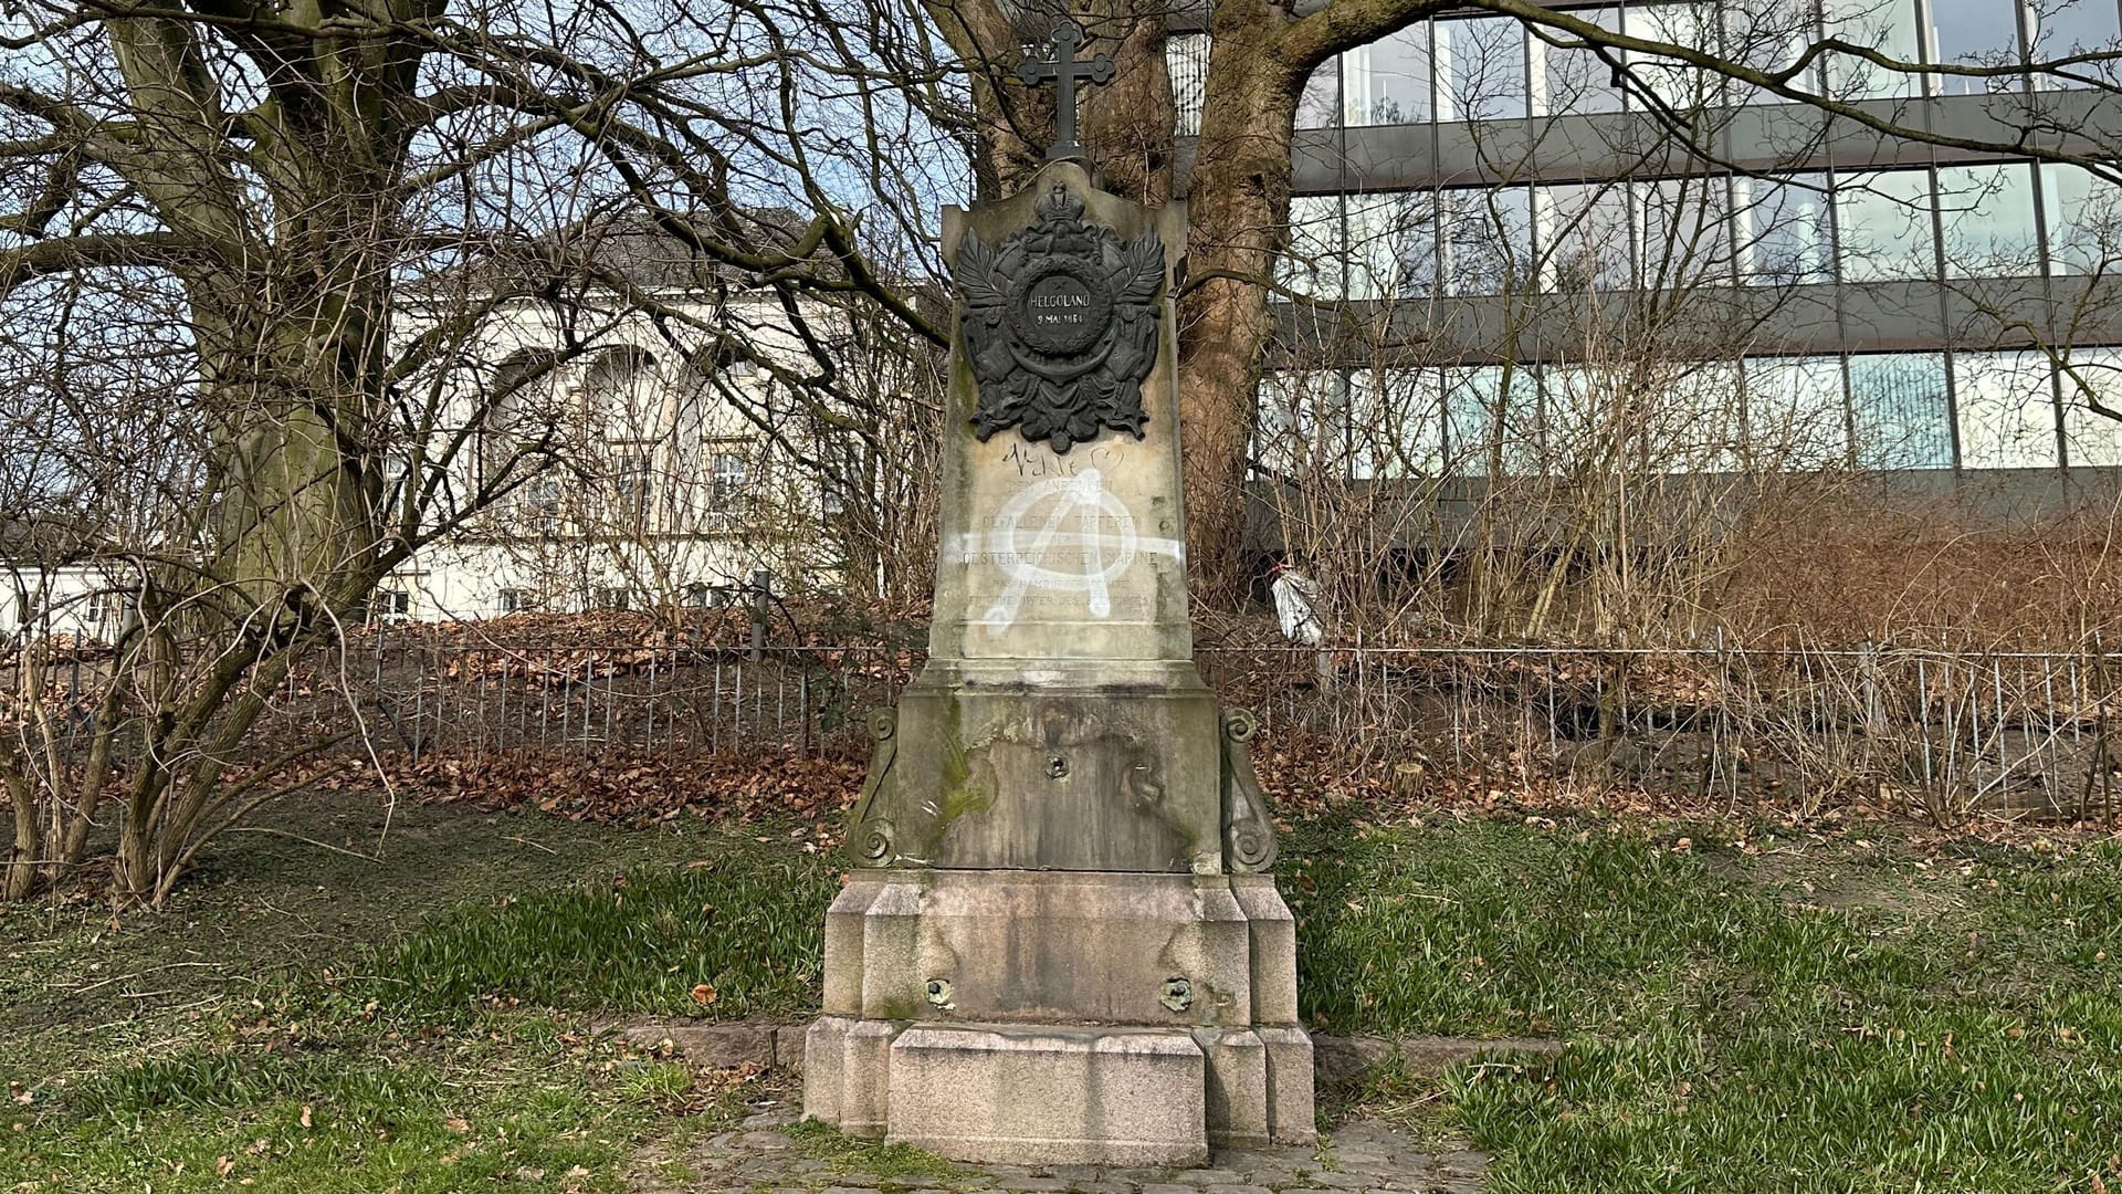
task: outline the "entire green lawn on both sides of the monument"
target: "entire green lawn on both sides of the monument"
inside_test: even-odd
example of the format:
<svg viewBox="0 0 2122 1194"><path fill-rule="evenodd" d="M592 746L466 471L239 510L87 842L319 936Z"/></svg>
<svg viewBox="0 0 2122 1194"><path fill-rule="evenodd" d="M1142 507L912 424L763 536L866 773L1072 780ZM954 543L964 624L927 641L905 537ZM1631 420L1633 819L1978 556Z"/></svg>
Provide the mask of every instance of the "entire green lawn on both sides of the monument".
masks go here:
<svg viewBox="0 0 2122 1194"><path fill-rule="evenodd" d="M0 1081L30 1094L0 1192L624 1190L758 1086L630 1056L594 1013L815 1009L838 863L789 826L401 816L386 863L231 858L166 918L0 909ZM2116 843L1322 822L1282 886L1318 1030L1566 1041L1343 1092L1496 1154L1494 1190L2122 1190ZM821 1183L949 1179L794 1135Z"/></svg>

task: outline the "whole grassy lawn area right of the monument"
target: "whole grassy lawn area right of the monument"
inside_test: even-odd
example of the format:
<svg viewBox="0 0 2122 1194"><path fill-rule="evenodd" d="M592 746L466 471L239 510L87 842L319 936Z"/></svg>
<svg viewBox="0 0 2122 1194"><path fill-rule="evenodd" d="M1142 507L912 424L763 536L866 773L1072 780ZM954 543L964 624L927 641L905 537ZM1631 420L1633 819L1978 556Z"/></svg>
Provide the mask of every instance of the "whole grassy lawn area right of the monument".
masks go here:
<svg viewBox="0 0 2122 1194"><path fill-rule="evenodd" d="M1575 829L1316 826L1286 854L1314 1024L1568 1041L1551 1064L1447 1077L1447 1122L1498 1154L1494 1190L2122 1177L2116 848L1814 841L1793 882L1774 843ZM1430 1107L1409 1088L1373 1103L1394 1098Z"/></svg>

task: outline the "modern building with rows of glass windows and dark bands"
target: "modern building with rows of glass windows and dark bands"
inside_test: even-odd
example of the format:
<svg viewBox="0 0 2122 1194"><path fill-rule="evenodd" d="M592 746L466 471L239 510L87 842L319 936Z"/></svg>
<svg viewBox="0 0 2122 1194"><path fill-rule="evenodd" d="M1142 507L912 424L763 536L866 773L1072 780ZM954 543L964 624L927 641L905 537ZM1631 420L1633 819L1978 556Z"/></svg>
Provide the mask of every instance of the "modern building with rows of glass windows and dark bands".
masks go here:
<svg viewBox="0 0 2122 1194"><path fill-rule="evenodd" d="M1840 36L1997 68L1825 55L1797 83L1933 132L2114 85L2088 74L2111 64L2010 68L2122 38L2118 0L1555 8L1761 66ZM1173 34L1182 136L1205 55L1205 34ZM1577 444L1617 406L1653 429L1653 472L2122 463L2122 423L2099 414L2122 410L2122 193L2073 166L1846 136L1670 57L1625 70L1466 15L1314 74L1265 472L1320 444L1356 478L1583 467ZM1712 159L1674 142L1674 117Z"/></svg>

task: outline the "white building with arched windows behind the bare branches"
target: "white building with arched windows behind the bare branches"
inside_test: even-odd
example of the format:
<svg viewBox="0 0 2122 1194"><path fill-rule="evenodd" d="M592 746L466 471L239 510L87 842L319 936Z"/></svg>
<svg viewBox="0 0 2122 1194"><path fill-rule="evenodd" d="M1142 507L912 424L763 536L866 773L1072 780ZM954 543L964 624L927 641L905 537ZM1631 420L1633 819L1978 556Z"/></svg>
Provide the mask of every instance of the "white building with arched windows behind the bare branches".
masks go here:
<svg viewBox="0 0 2122 1194"><path fill-rule="evenodd" d="M452 470L456 501L507 495L386 580L380 612L709 605L758 572L777 591L834 584L819 399L789 385L817 363L781 297L709 274L639 223L558 244L584 261L579 289L499 306L454 378L465 421L488 404ZM410 340L448 310L416 304L399 331ZM845 342L832 312L802 319Z"/></svg>

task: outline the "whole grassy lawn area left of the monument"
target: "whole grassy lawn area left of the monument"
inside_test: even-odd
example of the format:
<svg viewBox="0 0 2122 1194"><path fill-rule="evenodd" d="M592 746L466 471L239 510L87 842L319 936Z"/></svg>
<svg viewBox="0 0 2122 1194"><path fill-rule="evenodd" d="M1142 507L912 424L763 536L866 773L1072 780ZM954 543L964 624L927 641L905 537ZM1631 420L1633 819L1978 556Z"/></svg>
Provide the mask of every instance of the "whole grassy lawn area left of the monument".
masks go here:
<svg viewBox="0 0 2122 1194"><path fill-rule="evenodd" d="M376 816L306 812L320 839ZM632 1056L581 1011L698 1011L698 982L721 988L709 1011L808 1007L828 867L698 824L473 809L403 809L393 839L380 863L216 858L166 916L0 907L0 1081L21 1094L0 1190L609 1194L645 1139L785 1094Z"/></svg>

